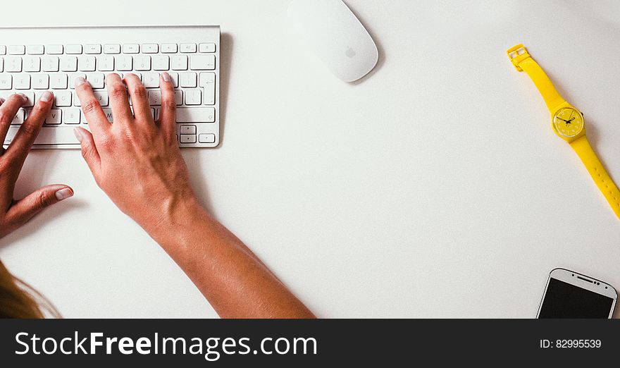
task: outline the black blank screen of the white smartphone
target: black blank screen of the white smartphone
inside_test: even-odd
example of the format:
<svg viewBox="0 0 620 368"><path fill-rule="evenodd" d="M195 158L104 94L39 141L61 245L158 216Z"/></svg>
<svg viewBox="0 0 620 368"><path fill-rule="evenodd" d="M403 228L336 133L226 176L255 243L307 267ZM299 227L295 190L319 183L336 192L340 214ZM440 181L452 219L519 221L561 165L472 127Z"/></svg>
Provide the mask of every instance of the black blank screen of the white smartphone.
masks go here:
<svg viewBox="0 0 620 368"><path fill-rule="evenodd" d="M609 318L614 300L550 278L538 318Z"/></svg>

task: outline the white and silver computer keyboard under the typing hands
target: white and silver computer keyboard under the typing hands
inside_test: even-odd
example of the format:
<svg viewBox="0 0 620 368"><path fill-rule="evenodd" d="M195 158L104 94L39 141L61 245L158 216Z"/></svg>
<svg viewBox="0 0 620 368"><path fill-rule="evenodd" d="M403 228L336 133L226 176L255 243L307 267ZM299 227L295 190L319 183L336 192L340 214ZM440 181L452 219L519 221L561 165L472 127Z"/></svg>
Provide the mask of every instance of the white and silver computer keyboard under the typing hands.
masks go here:
<svg viewBox="0 0 620 368"><path fill-rule="evenodd" d="M75 126L88 128L75 94L75 78L92 85L113 123L105 76L138 75L147 87L151 113L161 104L159 75L175 84L180 147L219 143L218 26L173 27L0 27L0 97L21 92L28 102L8 130L13 140L37 98L54 92L54 106L34 148L79 148Z"/></svg>

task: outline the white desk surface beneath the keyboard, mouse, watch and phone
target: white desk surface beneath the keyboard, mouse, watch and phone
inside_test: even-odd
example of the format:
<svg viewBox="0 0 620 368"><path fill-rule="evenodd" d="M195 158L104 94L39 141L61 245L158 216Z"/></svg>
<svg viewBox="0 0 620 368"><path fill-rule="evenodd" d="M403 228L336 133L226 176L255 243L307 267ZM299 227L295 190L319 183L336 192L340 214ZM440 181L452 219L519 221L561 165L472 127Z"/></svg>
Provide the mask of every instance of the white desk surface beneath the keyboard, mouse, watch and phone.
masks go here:
<svg viewBox="0 0 620 368"><path fill-rule="evenodd" d="M381 54L354 85L295 44L287 3L2 13L6 25L221 25L223 142L183 152L193 183L320 317L533 317L554 267L620 288L620 221L506 56L526 44L620 181L616 1L347 0ZM48 183L75 197L0 240L0 258L65 317L216 317L79 152L33 153L18 194Z"/></svg>

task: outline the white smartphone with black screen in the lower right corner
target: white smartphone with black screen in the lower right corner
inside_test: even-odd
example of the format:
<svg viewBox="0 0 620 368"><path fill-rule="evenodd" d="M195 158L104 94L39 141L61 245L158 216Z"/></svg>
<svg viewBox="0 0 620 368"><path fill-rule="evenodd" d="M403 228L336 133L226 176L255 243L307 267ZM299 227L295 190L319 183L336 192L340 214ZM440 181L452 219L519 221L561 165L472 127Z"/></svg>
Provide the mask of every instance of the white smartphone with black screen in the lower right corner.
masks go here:
<svg viewBox="0 0 620 368"><path fill-rule="evenodd" d="M612 318L616 300L616 289L608 283L567 269L554 269L536 318Z"/></svg>

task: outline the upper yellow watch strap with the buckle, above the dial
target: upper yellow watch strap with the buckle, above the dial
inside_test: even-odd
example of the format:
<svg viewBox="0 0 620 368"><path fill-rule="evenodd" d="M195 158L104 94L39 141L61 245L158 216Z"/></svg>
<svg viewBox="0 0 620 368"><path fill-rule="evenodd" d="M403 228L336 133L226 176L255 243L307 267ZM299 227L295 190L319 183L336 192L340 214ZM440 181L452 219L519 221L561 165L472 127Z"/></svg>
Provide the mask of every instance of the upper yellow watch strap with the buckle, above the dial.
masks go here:
<svg viewBox="0 0 620 368"><path fill-rule="evenodd" d="M512 47L507 53L516 70L525 70L525 72L528 73L540 94L543 95L545 104L547 104L547 109L553 114L557 106L564 102L564 99L560 96L559 92L557 92L549 77L547 77L545 70L540 68L538 63L532 59L532 56L528 53L528 49L523 47L523 44Z"/></svg>

